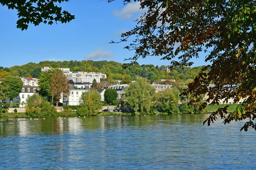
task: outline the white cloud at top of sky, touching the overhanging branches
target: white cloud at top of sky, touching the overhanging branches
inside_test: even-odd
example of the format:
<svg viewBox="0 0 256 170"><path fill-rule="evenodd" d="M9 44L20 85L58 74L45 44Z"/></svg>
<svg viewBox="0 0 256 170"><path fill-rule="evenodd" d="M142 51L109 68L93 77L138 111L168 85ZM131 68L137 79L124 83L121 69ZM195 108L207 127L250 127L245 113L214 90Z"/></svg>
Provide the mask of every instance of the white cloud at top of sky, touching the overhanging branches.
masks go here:
<svg viewBox="0 0 256 170"><path fill-rule="evenodd" d="M145 11L145 9L140 8L140 2L137 1L136 3L128 3L121 11L115 11L114 16L119 16L122 20L126 20L140 11Z"/></svg>

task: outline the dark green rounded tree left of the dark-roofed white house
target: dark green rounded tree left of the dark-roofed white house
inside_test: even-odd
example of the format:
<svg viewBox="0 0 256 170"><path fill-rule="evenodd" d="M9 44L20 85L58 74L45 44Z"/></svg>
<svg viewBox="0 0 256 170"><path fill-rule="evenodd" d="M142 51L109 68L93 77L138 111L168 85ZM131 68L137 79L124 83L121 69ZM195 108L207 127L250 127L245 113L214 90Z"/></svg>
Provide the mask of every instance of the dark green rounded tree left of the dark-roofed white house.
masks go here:
<svg viewBox="0 0 256 170"><path fill-rule="evenodd" d="M9 97L10 102L12 103L13 98L20 94L23 82L20 79L20 77L15 77L11 75L6 76L4 82L8 87L7 96Z"/></svg>

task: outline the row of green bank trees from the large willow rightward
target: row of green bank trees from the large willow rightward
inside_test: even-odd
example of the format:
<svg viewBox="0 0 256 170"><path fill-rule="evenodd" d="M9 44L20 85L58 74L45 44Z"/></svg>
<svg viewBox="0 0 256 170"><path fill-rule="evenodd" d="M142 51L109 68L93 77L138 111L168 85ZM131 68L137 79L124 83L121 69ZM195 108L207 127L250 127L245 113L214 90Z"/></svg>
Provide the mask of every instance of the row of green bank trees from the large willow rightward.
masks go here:
<svg viewBox="0 0 256 170"><path fill-rule="evenodd" d="M147 79L138 78L128 88L124 89L123 97L125 106L133 112L143 111L154 113L155 108L165 113L199 113L199 105L193 103L193 98L180 97L180 91L174 87L163 91L155 92L155 89L148 84ZM178 101L183 102L178 107ZM189 104L189 105L188 105Z"/></svg>

